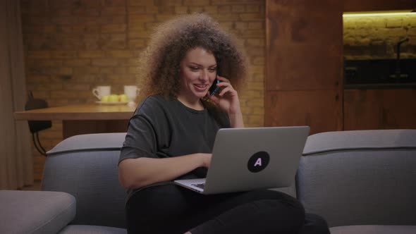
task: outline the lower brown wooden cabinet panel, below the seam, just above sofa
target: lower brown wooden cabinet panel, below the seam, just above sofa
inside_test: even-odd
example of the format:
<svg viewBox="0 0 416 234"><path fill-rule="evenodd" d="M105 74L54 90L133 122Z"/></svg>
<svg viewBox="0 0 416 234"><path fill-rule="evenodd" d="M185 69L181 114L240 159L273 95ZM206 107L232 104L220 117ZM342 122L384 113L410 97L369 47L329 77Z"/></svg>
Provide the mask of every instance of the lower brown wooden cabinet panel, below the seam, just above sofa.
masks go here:
<svg viewBox="0 0 416 234"><path fill-rule="evenodd" d="M341 97L336 90L269 91L265 125L309 125L311 134L343 130Z"/></svg>

